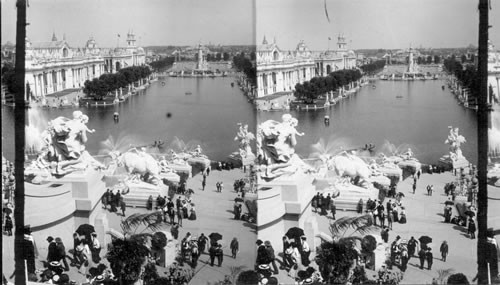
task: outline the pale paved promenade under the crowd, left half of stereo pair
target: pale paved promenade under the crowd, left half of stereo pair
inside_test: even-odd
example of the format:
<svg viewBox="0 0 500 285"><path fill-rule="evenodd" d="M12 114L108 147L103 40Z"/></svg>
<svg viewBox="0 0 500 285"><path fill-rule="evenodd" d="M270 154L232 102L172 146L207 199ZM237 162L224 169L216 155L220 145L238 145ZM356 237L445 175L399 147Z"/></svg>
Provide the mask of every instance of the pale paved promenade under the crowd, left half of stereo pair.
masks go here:
<svg viewBox="0 0 500 285"><path fill-rule="evenodd" d="M203 254L198 260L198 266L195 269L196 275L191 281L191 284L207 284L207 282L215 282L219 280L224 280L226 275L231 272L232 266L245 266L248 269L253 268L256 252L255 252L255 240L256 240L256 226L241 220L234 220L232 209L234 198L236 193L233 191L233 182L236 179L244 177L244 173L240 169L234 169L231 171L217 171L214 170L207 177L207 186L205 191L201 190L201 175L196 175L187 182L187 187L195 190L195 194L192 196L193 203L196 204L197 220L191 221L185 219L183 221L183 227L179 231L179 240L182 239L187 232L191 232L193 236L199 236L201 233L209 235L212 232L219 232L222 234L223 239L221 244L224 251L224 260L221 267L215 265L210 266L208 254ZM224 183L224 191L222 193L215 192L215 183L222 181ZM248 198L252 198L252 195L247 194ZM146 212L144 208L127 208L126 216L129 216L135 212ZM243 206L243 213L247 212L246 207ZM120 231L120 221L123 216L119 216L116 213L107 214L109 226ZM170 226L165 225L163 230L169 231ZM57 237L60 233L51 233L53 237ZM229 249L229 244L233 237L238 238L240 243L240 252L236 259L231 257L231 251ZM36 260L37 269L43 269L43 261L47 256L47 246L48 243L45 240L36 240L37 248L39 251L39 257ZM73 241L63 241L66 250L73 247ZM167 245L169 246L169 245ZM170 246L176 246L176 243ZM101 257L105 255L106 246L103 245L103 251L101 252ZM2 272L5 274L7 279L14 272L14 236L3 236L2 245L3 255L2 255ZM173 251L173 250L171 250ZM71 256L71 255L70 255ZM107 260L103 258L106 265ZM217 264L217 261L215 262ZM160 268L160 267L158 267ZM161 271L159 270L161 274ZM75 280L78 283L85 282L85 276L78 273L76 267L70 267L68 272L71 280ZM14 279L9 279L13 282Z"/></svg>

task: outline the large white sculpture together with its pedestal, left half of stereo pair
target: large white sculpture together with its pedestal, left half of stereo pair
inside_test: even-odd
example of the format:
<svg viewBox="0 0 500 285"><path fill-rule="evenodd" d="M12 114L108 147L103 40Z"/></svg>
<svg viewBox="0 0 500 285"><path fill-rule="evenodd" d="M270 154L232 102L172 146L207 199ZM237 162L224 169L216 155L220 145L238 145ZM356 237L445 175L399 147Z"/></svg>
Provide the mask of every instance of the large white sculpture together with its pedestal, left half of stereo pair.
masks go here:
<svg viewBox="0 0 500 285"><path fill-rule="evenodd" d="M71 240L79 225L92 224L101 244L107 244L108 221L99 206L106 191L104 165L85 150L87 133L92 133L86 116L75 111L72 119L58 117L43 129L44 122L32 117L36 112L30 110L26 134L29 149L38 156L25 167L25 223L40 240L53 232Z"/></svg>

